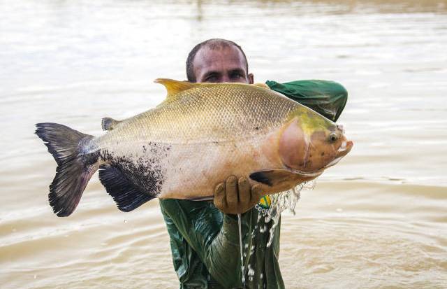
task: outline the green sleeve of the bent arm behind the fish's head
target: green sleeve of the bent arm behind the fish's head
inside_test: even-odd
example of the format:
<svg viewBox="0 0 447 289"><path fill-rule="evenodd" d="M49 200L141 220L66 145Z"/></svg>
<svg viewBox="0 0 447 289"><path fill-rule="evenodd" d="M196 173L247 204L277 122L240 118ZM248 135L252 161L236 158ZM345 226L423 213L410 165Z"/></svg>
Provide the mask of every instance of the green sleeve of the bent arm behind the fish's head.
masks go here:
<svg viewBox="0 0 447 289"><path fill-rule="evenodd" d="M348 100L346 89L328 80L296 80L289 83L268 80L265 84L332 121L337 121Z"/></svg>

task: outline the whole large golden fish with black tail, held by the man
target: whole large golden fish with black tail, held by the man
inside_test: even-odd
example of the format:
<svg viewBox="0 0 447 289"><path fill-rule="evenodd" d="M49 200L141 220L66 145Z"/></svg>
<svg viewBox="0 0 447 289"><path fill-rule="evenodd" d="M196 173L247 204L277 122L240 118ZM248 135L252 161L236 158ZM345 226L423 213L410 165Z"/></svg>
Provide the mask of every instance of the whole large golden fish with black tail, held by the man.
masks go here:
<svg viewBox="0 0 447 289"><path fill-rule="evenodd" d="M319 176L349 153L342 127L265 85L158 79L168 96L156 108L117 121L103 136L56 123L36 134L57 162L50 204L70 215L99 169L122 211L153 199L212 199L228 176L249 177L265 194Z"/></svg>

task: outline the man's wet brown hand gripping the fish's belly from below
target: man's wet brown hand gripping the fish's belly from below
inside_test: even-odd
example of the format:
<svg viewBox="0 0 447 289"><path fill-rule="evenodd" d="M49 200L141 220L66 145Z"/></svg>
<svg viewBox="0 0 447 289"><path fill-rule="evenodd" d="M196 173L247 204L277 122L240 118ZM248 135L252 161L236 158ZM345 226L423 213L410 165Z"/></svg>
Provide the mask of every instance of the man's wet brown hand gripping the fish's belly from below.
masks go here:
<svg viewBox="0 0 447 289"><path fill-rule="evenodd" d="M253 185L247 178L237 180L235 176L229 176L224 183L214 188L214 206L223 213L245 213L261 199L261 187Z"/></svg>

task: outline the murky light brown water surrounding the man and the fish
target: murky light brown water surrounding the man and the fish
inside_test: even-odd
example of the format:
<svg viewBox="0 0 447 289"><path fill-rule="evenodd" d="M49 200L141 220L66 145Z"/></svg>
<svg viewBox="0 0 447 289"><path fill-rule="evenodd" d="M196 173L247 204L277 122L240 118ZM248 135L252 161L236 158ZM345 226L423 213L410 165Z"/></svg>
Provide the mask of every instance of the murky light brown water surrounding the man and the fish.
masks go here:
<svg viewBox="0 0 447 289"><path fill-rule="evenodd" d="M191 47L237 41L258 81L336 80L353 151L285 214L288 288L447 288L445 1L3 1L1 288L177 288L159 204L122 213L97 177L47 204L36 122L101 133L156 105Z"/></svg>

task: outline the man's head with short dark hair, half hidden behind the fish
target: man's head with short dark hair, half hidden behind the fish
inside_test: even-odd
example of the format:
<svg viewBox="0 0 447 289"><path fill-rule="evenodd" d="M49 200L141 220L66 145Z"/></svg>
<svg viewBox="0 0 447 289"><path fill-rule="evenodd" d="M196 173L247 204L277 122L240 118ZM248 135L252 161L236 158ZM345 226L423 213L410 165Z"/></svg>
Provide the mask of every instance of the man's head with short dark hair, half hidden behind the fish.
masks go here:
<svg viewBox="0 0 447 289"><path fill-rule="evenodd" d="M208 39L198 43L186 59L191 83L253 83L242 48L233 41Z"/></svg>

